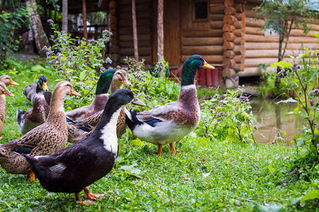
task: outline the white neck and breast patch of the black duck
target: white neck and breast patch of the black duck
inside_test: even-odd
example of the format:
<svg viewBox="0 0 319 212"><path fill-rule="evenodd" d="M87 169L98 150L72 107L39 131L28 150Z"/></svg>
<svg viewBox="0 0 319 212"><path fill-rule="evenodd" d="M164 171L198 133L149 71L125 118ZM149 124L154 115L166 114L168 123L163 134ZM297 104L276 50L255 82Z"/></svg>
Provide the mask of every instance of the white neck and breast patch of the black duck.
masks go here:
<svg viewBox="0 0 319 212"><path fill-rule="evenodd" d="M115 160L117 158L117 148L118 148L116 126L117 126L117 119L120 116L121 110L122 110L122 107L112 114L112 117L110 118L110 122L108 122L108 124L106 124L101 129L102 136L100 136L100 139L103 140L103 146L105 150L113 153Z"/></svg>

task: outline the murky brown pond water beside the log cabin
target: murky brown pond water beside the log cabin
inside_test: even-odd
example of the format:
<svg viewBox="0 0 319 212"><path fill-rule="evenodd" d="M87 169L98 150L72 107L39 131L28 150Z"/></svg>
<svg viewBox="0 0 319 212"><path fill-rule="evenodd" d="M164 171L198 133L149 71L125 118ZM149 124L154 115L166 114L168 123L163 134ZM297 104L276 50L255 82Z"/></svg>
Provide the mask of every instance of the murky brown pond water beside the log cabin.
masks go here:
<svg viewBox="0 0 319 212"><path fill-rule="evenodd" d="M259 123L258 131L263 135L255 136L256 141L260 143L273 142L278 136L285 139L286 144L293 145L290 141L294 139L294 135L301 133L305 120L296 114L289 114L287 112L293 111L297 105L296 103L280 103L279 100L250 100L253 107L253 114ZM285 131L286 134L279 134L279 130Z"/></svg>

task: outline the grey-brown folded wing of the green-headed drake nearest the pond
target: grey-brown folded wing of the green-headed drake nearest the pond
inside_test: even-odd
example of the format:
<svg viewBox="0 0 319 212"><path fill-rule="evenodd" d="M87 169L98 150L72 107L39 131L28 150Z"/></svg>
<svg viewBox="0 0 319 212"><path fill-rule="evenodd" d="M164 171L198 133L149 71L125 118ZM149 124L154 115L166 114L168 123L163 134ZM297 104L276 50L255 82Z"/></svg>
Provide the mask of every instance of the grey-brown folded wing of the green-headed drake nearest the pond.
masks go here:
<svg viewBox="0 0 319 212"><path fill-rule="evenodd" d="M156 120L164 122L171 119L175 112L178 112L178 102L168 102L166 105L155 107L152 110L137 113L137 119L152 125Z"/></svg>

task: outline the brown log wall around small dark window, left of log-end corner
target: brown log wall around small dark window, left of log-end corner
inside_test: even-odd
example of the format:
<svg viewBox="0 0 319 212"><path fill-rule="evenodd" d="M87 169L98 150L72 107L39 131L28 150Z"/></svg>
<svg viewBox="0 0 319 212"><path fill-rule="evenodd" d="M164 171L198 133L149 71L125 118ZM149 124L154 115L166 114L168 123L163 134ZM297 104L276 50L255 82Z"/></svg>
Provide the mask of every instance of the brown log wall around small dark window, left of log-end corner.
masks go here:
<svg viewBox="0 0 319 212"><path fill-rule="evenodd" d="M192 54L200 54L213 66L222 66L224 54L223 26L225 0L210 0L207 21L192 18L193 1L187 5L188 17L182 25L181 54L184 62Z"/></svg>

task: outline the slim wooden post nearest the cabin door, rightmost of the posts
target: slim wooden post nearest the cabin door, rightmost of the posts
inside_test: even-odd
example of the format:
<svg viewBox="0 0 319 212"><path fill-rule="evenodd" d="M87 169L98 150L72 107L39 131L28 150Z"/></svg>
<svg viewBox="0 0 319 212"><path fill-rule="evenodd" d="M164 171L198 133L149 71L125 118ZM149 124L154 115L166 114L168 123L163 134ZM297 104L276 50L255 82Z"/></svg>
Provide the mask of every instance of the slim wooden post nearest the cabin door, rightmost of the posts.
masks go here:
<svg viewBox="0 0 319 212"><path fill-rule="evenodd" d="M163 12L164 12L164 1L158 0L158 15L157 15L157 51L161 57L164 55L164 28L163 28Z"/></svg>

